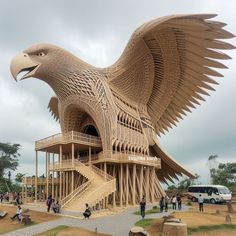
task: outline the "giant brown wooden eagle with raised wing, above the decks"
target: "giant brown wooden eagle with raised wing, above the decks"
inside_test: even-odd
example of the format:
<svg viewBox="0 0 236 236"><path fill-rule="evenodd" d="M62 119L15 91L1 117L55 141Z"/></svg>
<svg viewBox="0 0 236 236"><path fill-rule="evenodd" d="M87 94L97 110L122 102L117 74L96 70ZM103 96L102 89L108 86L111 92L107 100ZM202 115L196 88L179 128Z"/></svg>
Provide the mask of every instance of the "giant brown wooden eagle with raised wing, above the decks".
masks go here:
<svg viewBox="0 0 236 236"><path fill-rule="evenodd" d="M234 37L226 25L209 20L213 14L172 15L140 26L120 58L107 68L96 68L66 50L34 45L11 63L15 79L43 80L54 90L49 109L62 133L83 132L94 123L103 155L114 151L156 156L160 181L193 175L168 156L157 135L191 112L226 68L230 59L219 50L233 49L224 39Z"/></svg>

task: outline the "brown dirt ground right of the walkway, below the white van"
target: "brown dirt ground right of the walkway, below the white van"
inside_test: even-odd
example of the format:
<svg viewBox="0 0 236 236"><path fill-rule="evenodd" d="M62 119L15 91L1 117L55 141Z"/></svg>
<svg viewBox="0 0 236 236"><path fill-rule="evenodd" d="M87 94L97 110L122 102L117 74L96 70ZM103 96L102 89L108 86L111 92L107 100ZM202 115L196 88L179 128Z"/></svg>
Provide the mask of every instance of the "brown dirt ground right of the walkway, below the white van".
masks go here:
<svg viewBox="0 0 236 236"><path fill-rule="evenodd" d="M233 205L234 210L236 210L236 204ZM220 214L216 214L216 210L220 211ZM198 211L198 204L193 203L192 209L187 212L176 211L172 215L181 219L187 224L188 227L198 227L202 225L219 225L225 223L225 216L228 214L226 205L217 205L217 204L204 204L204 212L200 213ZM232 223L236 224L236 213L230 214ZM162 220L155 220L151 226L147 229L150 235L157 235L158 232L161 232ZM227 234L225 233L227 232ZM235 236L236 231L232 230L219 230L211 231L209 233L193 233L193 236Z"/></svg>

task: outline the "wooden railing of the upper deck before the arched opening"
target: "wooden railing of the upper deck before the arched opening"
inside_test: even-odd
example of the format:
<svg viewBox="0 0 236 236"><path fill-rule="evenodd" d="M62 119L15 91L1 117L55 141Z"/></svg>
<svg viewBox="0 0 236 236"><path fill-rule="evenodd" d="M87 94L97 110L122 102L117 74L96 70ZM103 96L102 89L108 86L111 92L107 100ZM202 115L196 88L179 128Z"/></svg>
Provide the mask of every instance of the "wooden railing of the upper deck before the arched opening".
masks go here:
<svg viewBox="0 0 236 236"><path fill-rule="evenodd" d="M85 145L91 145L96 147L101 147L101 139L96 136L92 136L89 134L84 134L76 131L70 131L64 134L54 134L44 139L40 139L35 142L35 149L45 148L51 145L56 144L66 144L66 143L81 143Z"/></svg>

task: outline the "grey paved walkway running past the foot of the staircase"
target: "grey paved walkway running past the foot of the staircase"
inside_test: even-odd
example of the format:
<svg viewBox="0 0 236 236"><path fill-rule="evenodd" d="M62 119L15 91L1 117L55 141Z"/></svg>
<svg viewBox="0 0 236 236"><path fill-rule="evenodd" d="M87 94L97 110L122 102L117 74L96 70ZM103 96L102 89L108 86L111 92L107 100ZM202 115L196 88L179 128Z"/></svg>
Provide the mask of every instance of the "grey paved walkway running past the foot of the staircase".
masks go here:
<svg viewBox="0 0 236 236"><path fill-rule="evenodd" d="M152 208L152 206L147 207L147 209L150 208ZM188 207L183 206L183 211L187 209ZM97 232L99 233L112 234L113 236L125 236L128 235L129 230L134 225L134 223L141 219L140 216L133 214L133 212L137 210L139 210L138 207L130 208L116 215L104 216L89 220L62 217L57 220L36 224L3 235L5 236L35 235L47 231L49 229L55 228L59 225L67 225L72 227L84 228L91 231L95 231L95 229L97 228ZM164 213L150 214L147 215L146 218L160 218L163 217L164 215L170 214L171 212L173 211L170 210Z"/></svg>

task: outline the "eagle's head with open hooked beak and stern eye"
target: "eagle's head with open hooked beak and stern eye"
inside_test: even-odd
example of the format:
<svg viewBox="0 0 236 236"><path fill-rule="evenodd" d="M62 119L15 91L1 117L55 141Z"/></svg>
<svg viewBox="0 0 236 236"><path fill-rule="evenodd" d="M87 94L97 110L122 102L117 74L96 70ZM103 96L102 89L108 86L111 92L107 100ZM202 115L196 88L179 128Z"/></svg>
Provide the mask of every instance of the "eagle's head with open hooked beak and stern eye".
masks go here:
<svg viewBox="0 0 236 236"><path fill-rule="evenodd" d="M65 68L68 68L67 64L73 61L72 58L73 55L62 48L38 44L16 55L11 61L10 70L16 81L21 72L26 73L20 80L34 77L47 81L49 77L56 77L61 71L65 71Z"/></svg>

